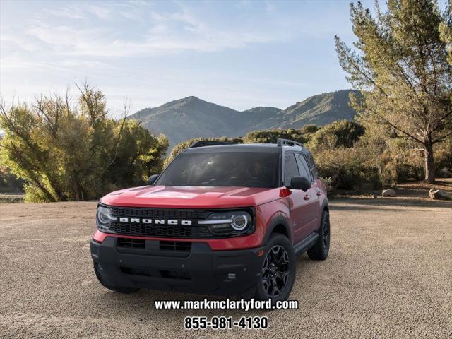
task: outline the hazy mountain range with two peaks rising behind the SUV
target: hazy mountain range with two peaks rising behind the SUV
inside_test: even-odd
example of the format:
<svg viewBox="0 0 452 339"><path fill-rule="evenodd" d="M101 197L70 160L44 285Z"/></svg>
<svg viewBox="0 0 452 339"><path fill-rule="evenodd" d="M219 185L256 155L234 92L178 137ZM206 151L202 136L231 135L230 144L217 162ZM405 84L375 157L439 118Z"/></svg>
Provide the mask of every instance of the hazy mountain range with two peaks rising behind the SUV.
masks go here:
<svg viewBox="0 0 452 339"><path fill-rule="evenodd" d="M192 96L142 109L129 119L138 119L154 133L165 133L174 145L196 137L243 136L256 129L299 129L306 124L351 120L356 112L348 103L350 93L359 95L355 90L338 90L308 97L286 109L254 107L243 112Z"/></svg>

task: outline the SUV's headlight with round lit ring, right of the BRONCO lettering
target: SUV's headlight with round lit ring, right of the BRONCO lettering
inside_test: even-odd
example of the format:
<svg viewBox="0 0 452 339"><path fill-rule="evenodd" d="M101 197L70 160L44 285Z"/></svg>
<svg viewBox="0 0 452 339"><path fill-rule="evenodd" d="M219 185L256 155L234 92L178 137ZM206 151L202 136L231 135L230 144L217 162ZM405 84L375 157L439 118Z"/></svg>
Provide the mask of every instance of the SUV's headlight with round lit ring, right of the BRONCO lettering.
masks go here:
<svg viewBox="0 0 452 339"><path fill-rule="evenodd" d="M207 225L214 234L234 235L251 233L251 221L251 215L246 211L227 211L212 213L206 220L198 221L198 225Z"/></svg>

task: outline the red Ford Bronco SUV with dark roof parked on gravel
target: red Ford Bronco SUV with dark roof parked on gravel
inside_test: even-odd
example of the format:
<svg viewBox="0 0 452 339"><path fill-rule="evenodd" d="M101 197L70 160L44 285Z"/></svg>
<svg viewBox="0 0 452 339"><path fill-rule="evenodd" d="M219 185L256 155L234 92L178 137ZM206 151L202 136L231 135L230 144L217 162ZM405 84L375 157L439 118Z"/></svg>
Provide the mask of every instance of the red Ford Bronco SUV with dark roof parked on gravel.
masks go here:
<svg viewBox="0 0 452 339"><path fill-rule="evenodd" d="M100 199L91 256L110 290L283 300L297 255L328 256L326 189L300 143L200 141L148 184Z"/></svg>

